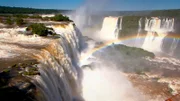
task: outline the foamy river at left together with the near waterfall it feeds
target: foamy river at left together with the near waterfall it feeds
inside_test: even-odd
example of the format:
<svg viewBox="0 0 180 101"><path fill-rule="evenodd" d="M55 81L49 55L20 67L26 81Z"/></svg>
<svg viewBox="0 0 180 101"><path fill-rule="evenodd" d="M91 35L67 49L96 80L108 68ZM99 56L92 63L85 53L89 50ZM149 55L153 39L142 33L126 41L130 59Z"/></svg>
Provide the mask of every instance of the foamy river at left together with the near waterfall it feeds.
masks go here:
<svg viewBox="0 0 180 101"><path fill-rule="evenodd" d="M81 33L73 23L53 26L60 38L24 35L22 29L1 29L1 59L34 57L40 61L39 72L33 78L42 96L40 101L74 101L81 97L82 70L78 66L83 43ZM46 46L46 48L43 48ZM41 47L40 49L36 47ZM19 56L19 57L18 57Z"/></svg>

